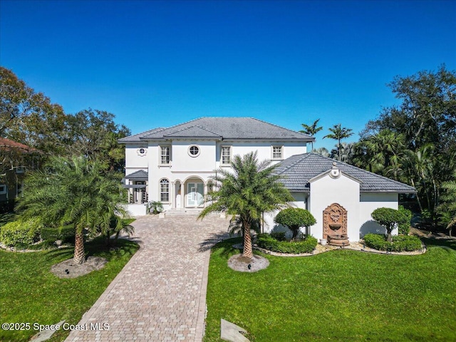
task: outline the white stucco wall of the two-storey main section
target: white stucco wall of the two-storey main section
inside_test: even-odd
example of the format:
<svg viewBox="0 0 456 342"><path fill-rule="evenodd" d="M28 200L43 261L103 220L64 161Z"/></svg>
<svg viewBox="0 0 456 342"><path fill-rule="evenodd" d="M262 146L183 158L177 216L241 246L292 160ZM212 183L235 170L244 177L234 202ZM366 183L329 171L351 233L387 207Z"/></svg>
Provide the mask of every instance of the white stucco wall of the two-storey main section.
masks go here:
<svg viewBox="0 0 456 342"><path fill-rule="evenodd" d="M171 147L170 165L160 165L160 147L162 145ZM197 145L199 147L199 155L197 157L189 155L190 145ZM185 192L187 191L185 189L185 182L187 180L204 182L204 193L207 192L209 177L214 175L214 171L222 166L220 163L222 146L231 147L231 157L258 151L258 159L260 161L271 160L272 146L283 147L282 158L280 160L291 157L291 155L306 152L306 143L304 142L177 139L127 143L125 145L125 175L130 175L138 170L148 172L147 193L149 201L160 200L160 180L164 178L169 180L170 202L163 203L163 207L165 210L176 208L179 207L176 201L179 184L181 184L181 197L185 196ZM145 155L139 155L139 148L145 148L147 153ZM280 160L272 160L272 162L275 164ZM229 168L226 165L223 167ZM183 203L180 202L180 208L182 208L182 204L185 207L185 200ZM304 205L304 202L301 205Z"/></svg>

